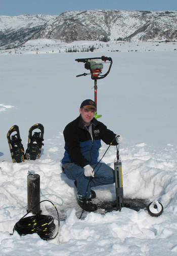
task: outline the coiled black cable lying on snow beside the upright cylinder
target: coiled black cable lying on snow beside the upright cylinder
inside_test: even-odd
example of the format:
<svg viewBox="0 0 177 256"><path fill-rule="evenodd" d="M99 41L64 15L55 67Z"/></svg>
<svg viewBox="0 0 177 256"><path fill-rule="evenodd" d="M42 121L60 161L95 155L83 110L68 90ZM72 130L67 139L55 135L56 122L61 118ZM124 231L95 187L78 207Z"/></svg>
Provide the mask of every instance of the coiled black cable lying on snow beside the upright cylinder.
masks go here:
<svg viewBox="0 0 177 256"><path fill-rule="evenodd" d="M43 200L38 204L45 201L48 201L51 204L53 204L49 200ZM28 213L30 213L38 204L36 204ZM59 232L59 226L60 226L59 213L56 206L54 204L53 206L55 207L58 215L58 232ZM14 226L14 230L16 230L19 235L25 236L27 234L37 233L39 237L43 240L51 240L56 238L56 236L58 235L58 232L54 237L52 237L54 234L56 225L54 223L54 218L51 215L38 214L38 215L25 217L28 213L26 213Z"/></svg>

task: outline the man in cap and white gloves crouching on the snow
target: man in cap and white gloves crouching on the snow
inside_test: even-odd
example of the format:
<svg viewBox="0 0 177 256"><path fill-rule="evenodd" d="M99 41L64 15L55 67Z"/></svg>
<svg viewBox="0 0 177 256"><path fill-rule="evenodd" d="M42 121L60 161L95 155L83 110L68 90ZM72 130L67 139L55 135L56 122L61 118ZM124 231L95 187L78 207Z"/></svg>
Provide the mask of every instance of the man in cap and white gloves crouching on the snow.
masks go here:
<svg viewBox="0 0 177 256"><path fill-rule="evenodd" d="M81 103L80 116L66 125L63 135L65 153L62 159L63 172L69 179L75 180L78 204L85 211L96 211L92 202L96 193L91 187L112 184L115 173L104 163L98 164L101 140L106 144L117 145L123 138L94 118L96 104L92 100Z"/></svg>

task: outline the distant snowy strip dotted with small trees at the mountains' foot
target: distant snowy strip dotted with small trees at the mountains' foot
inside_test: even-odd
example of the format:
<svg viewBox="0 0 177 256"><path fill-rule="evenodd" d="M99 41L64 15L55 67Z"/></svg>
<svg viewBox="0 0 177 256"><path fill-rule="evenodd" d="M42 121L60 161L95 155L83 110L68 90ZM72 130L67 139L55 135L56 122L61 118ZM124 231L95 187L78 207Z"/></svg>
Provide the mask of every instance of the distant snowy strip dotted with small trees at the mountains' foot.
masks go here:
<svg viewBox="0 0 177 256"><path fill-rule="evenodd" d="M64 43L55 39L29 40L25 44L14 48L0 48L0 54L39 54L65 52L139 52L139 51L176 51L177 42L125 42L125 41L77 41Z"/></svg>

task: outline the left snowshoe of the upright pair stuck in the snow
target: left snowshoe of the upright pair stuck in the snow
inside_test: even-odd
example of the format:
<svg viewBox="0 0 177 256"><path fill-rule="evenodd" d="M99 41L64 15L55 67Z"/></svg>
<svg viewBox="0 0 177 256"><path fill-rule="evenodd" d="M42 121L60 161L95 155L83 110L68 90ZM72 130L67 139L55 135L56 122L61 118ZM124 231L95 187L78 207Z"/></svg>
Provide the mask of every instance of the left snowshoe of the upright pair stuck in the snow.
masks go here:
<svg viewBox="0 0 177 256"><path fill-rule="evenodd" d="M14 133L14 135L12 135ZM11 156L13 163L21 163L24 162L24 148L21 143L20 132L18 125L14 125L11 127L7 134L9 148L11 151Z"/></svg>

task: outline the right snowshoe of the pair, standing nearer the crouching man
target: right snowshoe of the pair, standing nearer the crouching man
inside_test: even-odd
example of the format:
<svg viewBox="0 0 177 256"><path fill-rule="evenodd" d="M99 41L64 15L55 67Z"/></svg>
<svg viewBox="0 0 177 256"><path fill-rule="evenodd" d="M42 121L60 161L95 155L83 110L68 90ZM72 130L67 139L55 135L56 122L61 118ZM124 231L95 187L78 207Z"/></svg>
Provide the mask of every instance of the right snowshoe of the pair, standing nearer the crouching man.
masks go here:
<svg viewBox="0 0 177 256"><path fill-rule="evenodd" d="M35 129L40 130L40 132L33 133ZM27 160L35 160L40 158L41 147L43 145L43 133L44 128L41 123L34 124L29 129L28 146L25 153Z"/></svg>

